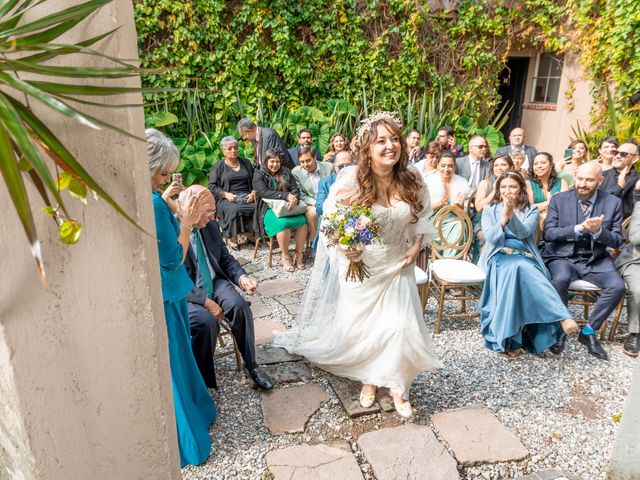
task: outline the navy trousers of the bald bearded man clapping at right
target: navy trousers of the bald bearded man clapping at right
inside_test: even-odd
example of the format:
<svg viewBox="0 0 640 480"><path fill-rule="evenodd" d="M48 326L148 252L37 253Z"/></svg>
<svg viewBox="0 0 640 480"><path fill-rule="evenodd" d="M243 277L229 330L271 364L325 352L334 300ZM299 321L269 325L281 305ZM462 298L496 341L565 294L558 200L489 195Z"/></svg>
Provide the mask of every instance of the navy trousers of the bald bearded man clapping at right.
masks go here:
<svg viewBox="0 0 640 480"><path fill-rule="evenodd" d="M587 260L586 258L555 259L547 263L547 267L551 272L551 283L565 305L569 301L569 284L574 280L585 280L602 289L589 315L589 324L594 330L598 330L620 303L626 287L624 280L615 269L594 272L587 264Z"/></svg>

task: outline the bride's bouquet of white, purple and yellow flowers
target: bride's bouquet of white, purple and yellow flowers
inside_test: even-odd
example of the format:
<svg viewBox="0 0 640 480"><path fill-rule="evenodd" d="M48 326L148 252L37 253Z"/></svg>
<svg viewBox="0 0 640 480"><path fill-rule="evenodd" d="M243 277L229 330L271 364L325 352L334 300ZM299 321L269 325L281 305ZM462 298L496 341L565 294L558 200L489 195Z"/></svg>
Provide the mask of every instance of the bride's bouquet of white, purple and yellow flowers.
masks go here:
<svg viewBox="0 0 640 480"><path fill-rule="evenodd" d="M341 205L330 215L322 216L322 233L327 238L327 246L336 245L362 252L366 245L374 242L382 243L378 232L380 225L371 215L371 208L359 203ZM367 266L362 260L351 261L344 279L363 282L370 277Z"/></svg>

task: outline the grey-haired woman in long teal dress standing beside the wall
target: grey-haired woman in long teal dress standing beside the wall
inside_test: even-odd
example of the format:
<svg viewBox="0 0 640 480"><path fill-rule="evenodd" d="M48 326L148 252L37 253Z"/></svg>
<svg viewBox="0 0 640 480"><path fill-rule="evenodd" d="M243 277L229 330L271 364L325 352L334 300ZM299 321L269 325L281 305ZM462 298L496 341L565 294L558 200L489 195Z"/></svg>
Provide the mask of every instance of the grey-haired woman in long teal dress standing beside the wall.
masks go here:
<svg viewBox="0 0 640 480"><path fill-rule="evenodd" d="M191 350L186 297L193 283L187 274L184 259L189 247L192 219L198 209L207 208L207 205L202 204L199 196L189 198L182 208L172 203L180 217L178 223L160 194L162 186L168 183L171 173L178 166L178 149L169 137L158 130L147 129L146 135L180 466L200 465L207 460L211 451L209 425L216 418L216 406ZM164 196L170 198L180 189L181 185L172 183Z"/></svg>

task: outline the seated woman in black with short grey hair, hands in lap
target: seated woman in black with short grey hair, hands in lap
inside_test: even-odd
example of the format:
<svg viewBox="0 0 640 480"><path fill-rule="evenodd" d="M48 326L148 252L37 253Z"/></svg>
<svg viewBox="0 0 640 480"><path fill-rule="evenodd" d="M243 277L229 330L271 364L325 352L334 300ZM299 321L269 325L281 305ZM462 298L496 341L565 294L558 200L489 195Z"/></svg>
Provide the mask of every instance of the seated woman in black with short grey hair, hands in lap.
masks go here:
<svg viewBox="0 0 640 480"><path fill-rule="evenodd" d="M218 205L218 219L227 245L237 249L241 234L255 240L253 217L256 192L253 191L253 165L238 157L238 141L224 137L220 142L224 160L216 163L209 175L209 190Z"/></svg>

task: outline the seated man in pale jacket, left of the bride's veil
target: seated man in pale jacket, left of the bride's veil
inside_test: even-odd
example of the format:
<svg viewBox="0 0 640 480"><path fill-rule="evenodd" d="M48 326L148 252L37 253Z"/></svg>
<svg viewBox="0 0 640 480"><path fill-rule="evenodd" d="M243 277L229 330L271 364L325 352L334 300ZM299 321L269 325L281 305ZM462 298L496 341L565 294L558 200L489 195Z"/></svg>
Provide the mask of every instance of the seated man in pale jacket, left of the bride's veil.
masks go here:
<svg viewBox="0 0 640 480"><path fill-rule="evenodd" d="M316 237L318 216L316 215L316 196L319 183L333 173L333 166L327 162L318 162L309 147L302 147L298 153L300 165L291 170L300 187L300 199L307 205L307 235L311 241ZM334 160L335 161L335 160Z"/></svg>

